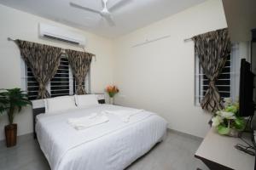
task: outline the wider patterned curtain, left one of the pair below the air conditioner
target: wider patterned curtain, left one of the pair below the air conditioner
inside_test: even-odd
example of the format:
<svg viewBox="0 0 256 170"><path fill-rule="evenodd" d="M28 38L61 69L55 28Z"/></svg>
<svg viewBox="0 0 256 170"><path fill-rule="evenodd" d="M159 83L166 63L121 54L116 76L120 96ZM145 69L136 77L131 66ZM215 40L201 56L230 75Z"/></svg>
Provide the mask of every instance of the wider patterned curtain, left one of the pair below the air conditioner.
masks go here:
<svg viewBox="0 0 256 170"><path fill-rule="evenodd" d="M55 76L61 59L61 48L55 48L35 42L15 40L20 54L39 84L38 99L49 98L46 86Z"/></svg>

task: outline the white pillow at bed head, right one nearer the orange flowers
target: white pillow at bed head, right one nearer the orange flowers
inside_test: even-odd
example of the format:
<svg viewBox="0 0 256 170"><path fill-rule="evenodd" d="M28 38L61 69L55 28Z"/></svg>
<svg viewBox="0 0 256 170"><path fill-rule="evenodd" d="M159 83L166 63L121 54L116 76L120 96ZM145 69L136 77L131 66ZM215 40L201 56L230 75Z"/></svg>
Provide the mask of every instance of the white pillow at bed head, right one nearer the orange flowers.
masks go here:
<svg viewBox="0 0 256 170"><path fill-rule="evenodd" d="M95 94L75 95L75 101L78 107L99 105Z"/></svg>

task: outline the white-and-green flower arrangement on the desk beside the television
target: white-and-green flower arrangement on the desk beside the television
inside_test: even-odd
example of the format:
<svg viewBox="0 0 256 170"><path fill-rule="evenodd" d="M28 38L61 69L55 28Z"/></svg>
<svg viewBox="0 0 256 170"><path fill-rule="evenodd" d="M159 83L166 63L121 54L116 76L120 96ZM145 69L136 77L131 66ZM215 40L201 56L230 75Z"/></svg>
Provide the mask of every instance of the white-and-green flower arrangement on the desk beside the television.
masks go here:
<svg viewBox="0 0 256 170"><path fill-rule="evenodd" d="M224 110L217 111L212 117L212 127L216 127L219 134L239 137L246 127L243 117L238 115L239 104L230 98L224 99Z"/></svg>

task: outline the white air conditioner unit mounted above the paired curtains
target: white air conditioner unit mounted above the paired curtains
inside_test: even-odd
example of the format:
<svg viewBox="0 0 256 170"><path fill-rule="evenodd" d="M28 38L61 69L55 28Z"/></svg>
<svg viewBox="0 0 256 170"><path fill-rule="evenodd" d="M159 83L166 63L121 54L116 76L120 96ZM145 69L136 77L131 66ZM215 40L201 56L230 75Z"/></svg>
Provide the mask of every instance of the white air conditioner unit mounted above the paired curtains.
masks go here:
<svg viewBox="0 0 256 170"><path fill-rule="evenodd" d="M86 39L82 35L60 27L49 26L42 23L39 24L39 37L55 39L57 41L68 42L84 47L86 45Z"/></svg>

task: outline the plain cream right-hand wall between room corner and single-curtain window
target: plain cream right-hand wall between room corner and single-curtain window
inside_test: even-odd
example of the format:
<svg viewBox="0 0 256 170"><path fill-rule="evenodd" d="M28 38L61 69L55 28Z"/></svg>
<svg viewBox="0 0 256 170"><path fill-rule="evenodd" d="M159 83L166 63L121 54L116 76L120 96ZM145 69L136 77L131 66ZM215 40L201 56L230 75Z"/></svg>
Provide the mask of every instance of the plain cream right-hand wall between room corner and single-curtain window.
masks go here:
<svg viewBox="0 0 256 170"><path fill-rule="evenodd" d="M209 0L114 41L113 80L120 105L155 111L169 127L203 137L211 115L194 105L193 42L183 39L226 27L220 0ZM146 39L171 35L137 48Z"/></svg>

